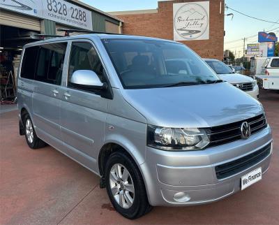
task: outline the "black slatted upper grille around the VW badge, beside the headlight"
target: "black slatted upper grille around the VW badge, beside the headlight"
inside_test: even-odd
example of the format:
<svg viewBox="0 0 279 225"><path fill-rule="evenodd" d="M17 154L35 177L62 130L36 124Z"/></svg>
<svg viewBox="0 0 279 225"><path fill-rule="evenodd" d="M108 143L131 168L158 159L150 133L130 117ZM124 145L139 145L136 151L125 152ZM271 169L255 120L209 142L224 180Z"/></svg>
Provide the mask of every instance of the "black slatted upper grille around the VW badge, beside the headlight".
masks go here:
<svg viewBox="0 0 279 225"><path fill-rule="evenodd" d="M251 135L258 131L262 131L262 129L267 126L266 118L263 114L232 124L213 126L209 129L209 146L223 145L241 139L240 128L243 122L248 122L248 124L250 124Z"/></svg>

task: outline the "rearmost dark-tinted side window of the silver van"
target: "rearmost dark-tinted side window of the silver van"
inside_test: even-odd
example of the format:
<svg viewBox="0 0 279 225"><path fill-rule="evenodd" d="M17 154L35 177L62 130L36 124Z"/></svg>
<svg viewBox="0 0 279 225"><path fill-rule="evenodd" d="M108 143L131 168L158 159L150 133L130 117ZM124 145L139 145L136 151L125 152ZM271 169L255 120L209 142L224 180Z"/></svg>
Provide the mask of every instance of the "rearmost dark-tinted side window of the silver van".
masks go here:
<svg viewBox="0 0 279 225"><path fill-rule="evenodd" d="M29 47L24 50L20 77L34 79L38 50L38 46Z"/></svg>

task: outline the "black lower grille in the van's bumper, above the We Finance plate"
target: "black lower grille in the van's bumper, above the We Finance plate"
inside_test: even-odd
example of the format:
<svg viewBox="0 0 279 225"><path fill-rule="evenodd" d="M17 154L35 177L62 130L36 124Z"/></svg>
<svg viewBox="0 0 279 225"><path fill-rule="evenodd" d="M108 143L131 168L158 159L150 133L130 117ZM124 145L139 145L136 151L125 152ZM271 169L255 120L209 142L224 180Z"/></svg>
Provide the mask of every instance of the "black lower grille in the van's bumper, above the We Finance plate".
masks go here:
<svg viewBox="0 0 279 225"><path fill-rule="evenodd" d="M260 150L253 152L251 154L246 155L240 159L236 159L234 161L230 161L226 164L222 164L215 167L216 177L218 180L224 179L226 177L232 176L236 173L240 173L251 166L259 163L265 159L271 153L271 144L266 145Z"/></svg>

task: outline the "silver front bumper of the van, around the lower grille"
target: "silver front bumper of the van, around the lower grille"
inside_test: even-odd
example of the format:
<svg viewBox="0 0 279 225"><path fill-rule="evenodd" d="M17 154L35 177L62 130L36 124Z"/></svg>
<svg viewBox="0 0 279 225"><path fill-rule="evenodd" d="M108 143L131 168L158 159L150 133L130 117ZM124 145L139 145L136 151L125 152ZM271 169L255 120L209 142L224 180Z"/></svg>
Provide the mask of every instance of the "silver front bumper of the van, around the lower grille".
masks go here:
<svg viewBox="0 0 279 225"><path fill-rule="evenodd" d="M247 140L209 147L201 151L167 152L146 147L141 170L151 205L197 205L225 198L241 189L241 176L262 167L269 168L271 152L241 172L218 180L215 167L245 157L272 143L271 129L255 133Z"/></svg>

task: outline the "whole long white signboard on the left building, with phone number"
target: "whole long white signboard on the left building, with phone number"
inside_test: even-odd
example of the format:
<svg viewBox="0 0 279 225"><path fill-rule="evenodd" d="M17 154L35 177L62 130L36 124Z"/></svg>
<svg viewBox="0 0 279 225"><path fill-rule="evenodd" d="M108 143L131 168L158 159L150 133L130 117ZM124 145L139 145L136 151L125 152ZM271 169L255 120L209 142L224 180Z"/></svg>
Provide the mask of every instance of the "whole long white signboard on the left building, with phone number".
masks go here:
<svg viewBox="0 0 279 225"><path fill-rule="evenodd" d="M0 0L0 8L53 20L80 29L93 29L91 11L64 0Z"/></svg>

